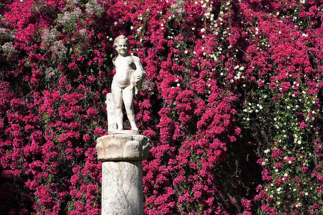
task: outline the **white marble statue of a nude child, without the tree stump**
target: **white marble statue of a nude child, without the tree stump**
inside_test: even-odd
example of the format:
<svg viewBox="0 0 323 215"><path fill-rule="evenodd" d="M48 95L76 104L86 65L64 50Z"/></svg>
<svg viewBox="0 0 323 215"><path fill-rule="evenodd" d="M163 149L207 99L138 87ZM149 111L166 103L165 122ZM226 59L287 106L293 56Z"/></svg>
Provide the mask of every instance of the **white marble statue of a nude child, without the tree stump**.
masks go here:
<svg viewBox="0 0 323 215"><path fill-rule="evenodd" d="M139 93L142 80L146 78L146 73L139 57L128 53L130 44L127 37L120 35L115 38L113 47L118 53L118 56L112 60L113 65L116 67L116 74L111 84L117 130L123 130L122 101L127 111L131 130L138 130L132 103L134 95Z"/></svg>

